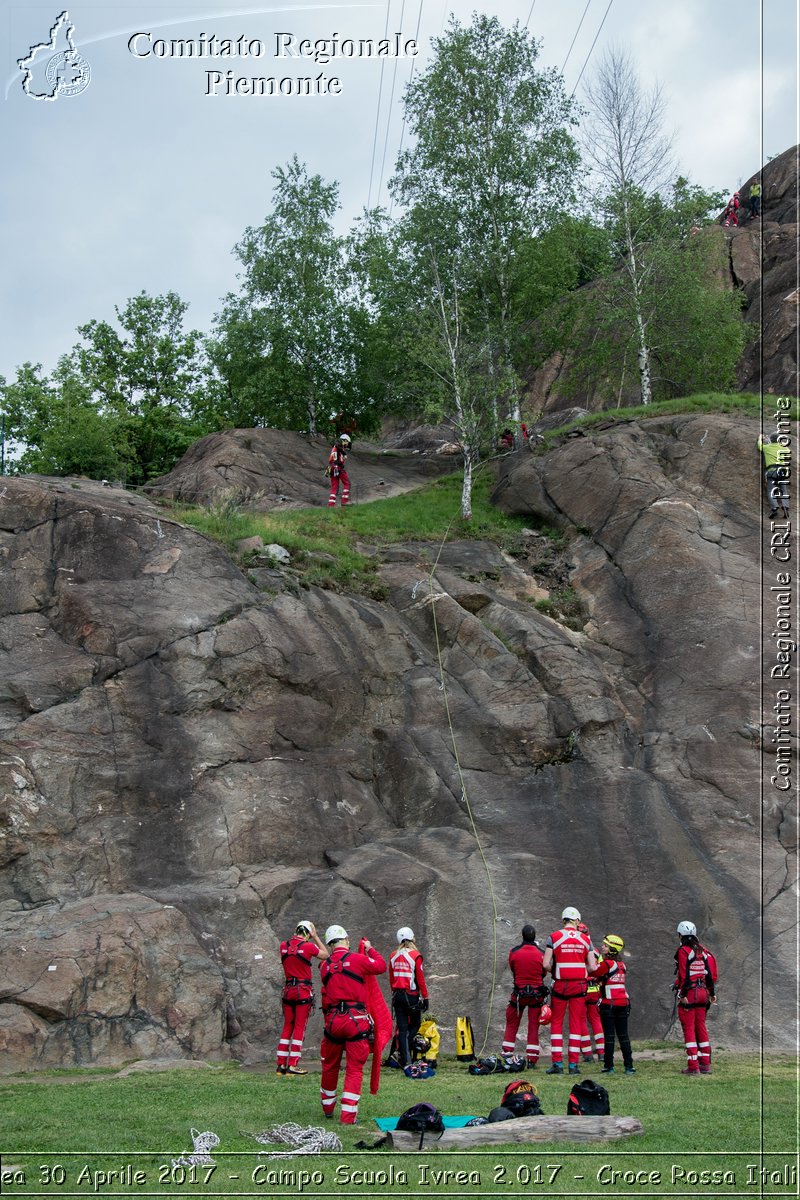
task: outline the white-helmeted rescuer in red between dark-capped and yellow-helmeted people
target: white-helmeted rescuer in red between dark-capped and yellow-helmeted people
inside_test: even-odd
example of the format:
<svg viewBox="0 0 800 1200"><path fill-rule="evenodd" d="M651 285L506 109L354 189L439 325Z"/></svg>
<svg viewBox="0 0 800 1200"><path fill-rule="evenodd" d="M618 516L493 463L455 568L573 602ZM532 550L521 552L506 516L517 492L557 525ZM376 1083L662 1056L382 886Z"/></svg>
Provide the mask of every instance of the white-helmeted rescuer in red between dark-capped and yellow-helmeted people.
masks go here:
<svg viewBox="0 0 800 1200"><path fill-rule="evenodd" d="M577 908L565 908L561 913L563 929L554 930L547 940L542 960L545 972L553 976L551 992L551 1058L548 1075L564 1074L564 1018L569 1013L570 1074L579 1072L581 1044L587 1032L587 980L597 966L595 952L585 934L578 929L581 913Z"/></svg>

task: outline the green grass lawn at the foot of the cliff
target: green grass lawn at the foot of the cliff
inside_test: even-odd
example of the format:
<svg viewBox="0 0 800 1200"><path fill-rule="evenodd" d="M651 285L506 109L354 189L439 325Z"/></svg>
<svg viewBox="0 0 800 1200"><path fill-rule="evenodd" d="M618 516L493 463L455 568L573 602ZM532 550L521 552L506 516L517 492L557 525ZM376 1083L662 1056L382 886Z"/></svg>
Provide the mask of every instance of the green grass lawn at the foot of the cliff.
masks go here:
<svg viewBox="0 0 800 1200"><path fill-rule="evenodd" d="M634 1055L636 1050L634 1045ZM499 1103L507 1076L470 1075L455 1058L443 1060L435 1079L426 1081L413 1082L398 1072L384 1070L379 1094L362 1098L360 1123L351 1129L321 1118L317 1073L283 1079L229 1067L101 1079L92 1072L76 1084L26 1076L24 1081L0 1084L2 1163L4 1169L11 1164L20 1166L26 1172L26 1183L41 1183L43 1168L53 1170L61 1164L65 1183L42 1188L41 1194L53 1195L91 1192L91 1184L85 1182L83 1188L76 1188L77 1174L86 1165L92 1171L108 1171L130 1163L146 1175L146 1188L140 1186L139 1193L156 1195L297 1194L296 1177L294 1184L272 1182L266 1187L257 1180L254 1186L253 1171L259 1168L261 1175L278 1169L293 1170L295 1176L301 1169L319 1171L324 1182L306 1188L306 1194L312 1195L403 1195L420 1186L425 1187L425 1194L459 1194L452 1181L435 1186L429 1175L427 1182L421 1181L420 1169L427 1164L428 1172L434 1169L476 1172L480 1187L473 1180L465 1188L473 1195L509 1196L529 1195L531 1189L541 1193L545 1187L557 1194L693 1190L691 1186L687 1188L686 1175L673 1181L673 1168L679 1172L734 1172L735 1187L705 1188L704 1194L747 1192L747 1164L760 1164L762 1139L763 1148L777 1156L769 1160L770 1169L794 1160L793 1056L775 1055L762 1061L756 1054L717 1051L714 1074L698 1080L681 1076L681 1066L682 1050L672 1045L668 1058L638 1058L633 1076L604 1076L612 1112L639 1117L643 1136L594 1145L543 1142L524 1150L507 1144L486 1153L443 1153L426 1147L422 1154L383 1148L363 1151L356 1150L355 1144L362 1139L369 1141L378 1133L372 1117L396 1116L421 1099L431 1100L446 1114L486 1115ZM547 1115L565 1115L569 1080L547 1076L542 1067L530 1073L542 1108ZM594 1070L587 1066L584 1074L593 1075ZM343 1151L277 1163L259 1158L261 1147L247 1134L284 1122L331 1129L341 1136ZM216 1171L206 1182L207 1168L198 1168L193 1186L188 1177L180 1172L173 1176L169 1169L173 1158L191 1152L191 1128L213 1130L221 1139L213 1152ZM553 1172L548 1164L559 1170ZM359 1177L354 1182L354 1172L389 1172L390 1166L396 1176L405 1172L405 1183L397 1177L393 1186L389 1182L384 1186L380 1180L362 1186ZM536 1168L541 1168L537 1177L533 1174ZM597 1178L600 1169L606 1175L610 1170L658 1171L661 1182L657 1187L636 1183L609 1187L607 1180ZM181 1182L187 1187L181 1187ZM120 1194L126 1189L110 1183L101 1190ZM754 1192L752 1186L751 1190ZM14 1188L13 1193L40 1194L22 1188Z"/></svg>

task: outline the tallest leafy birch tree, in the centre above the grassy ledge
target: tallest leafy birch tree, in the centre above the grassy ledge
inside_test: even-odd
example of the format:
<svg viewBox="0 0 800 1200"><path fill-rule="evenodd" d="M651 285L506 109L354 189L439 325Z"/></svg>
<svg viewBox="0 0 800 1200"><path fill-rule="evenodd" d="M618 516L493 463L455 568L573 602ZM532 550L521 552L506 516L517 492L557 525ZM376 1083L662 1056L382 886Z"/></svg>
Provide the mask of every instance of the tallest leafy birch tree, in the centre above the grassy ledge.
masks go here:
<svg viewBox="0 0 800 1200"><path fill-rule="evenodd" d="M451 18L405 91L414 144L391 188L405 209L411 324L427 334L410 350L427 368L429 410L451 421L464 452L464 517L486 431L497 432L500 406L519 418L523 248L572 202L576 109L537 56L518 25Z"/></svg>

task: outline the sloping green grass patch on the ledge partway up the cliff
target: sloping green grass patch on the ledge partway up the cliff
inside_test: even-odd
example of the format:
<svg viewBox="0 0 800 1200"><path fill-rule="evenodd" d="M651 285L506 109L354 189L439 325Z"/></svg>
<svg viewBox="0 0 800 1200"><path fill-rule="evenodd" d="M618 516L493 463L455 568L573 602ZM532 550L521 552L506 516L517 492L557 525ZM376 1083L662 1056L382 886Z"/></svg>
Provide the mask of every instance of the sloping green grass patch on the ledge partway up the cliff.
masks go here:
<svg viewBox="0 0 800 1200"><path fill-rule="evenodd" d="M494 478L480 472L473 490L473 520L461 520L462 475L447 475L404 496L351 504L347 509L293 509L287 512L248 512L231 503L211 508L174 505L170 515L206 538L221 542L235 556L245 538L260 536L277 542L291 554L293 570L301 583L384 599L386 588L378 578L375 559L359 548L403 541L441 542L445 538L492 541L519 552L525 522L506 516L489 503ZM251 556L242 565L255 564Z"/></svg>

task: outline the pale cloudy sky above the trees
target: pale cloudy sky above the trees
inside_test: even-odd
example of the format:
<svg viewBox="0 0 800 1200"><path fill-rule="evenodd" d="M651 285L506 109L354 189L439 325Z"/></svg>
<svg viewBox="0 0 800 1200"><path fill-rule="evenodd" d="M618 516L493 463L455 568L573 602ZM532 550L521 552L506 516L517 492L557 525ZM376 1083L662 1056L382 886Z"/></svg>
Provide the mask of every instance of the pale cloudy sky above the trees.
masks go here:
<svg viewBox="0 0 800 1200"><path fill-rule="evenodd" d="M733 191L798 136L798 10L792 0L485 0L474 8L519 20L541 40L541 65L564 68L570 90L614 44L642 83L658 80L680 169ZM269 211L270 172L293 154L341 185L341 226L386 181L405 137L401 95L441 32L446 0L369 4L70 4L74 44L91 78L76 95L36 101L17 60L46 42L62 5L5 5L0 373L25 360L55 366L91 318L113 319L138 292L178 292L188 323L207 330L236 286L234 244ZM417 34L419 29L419 34ZM313 64L272 56L275 35L416 38L414 59ZM136 56L156 38L258 38L258 59ZM209 70L236 76L326 76L339 95L209 96ZM578 77L583 72L581 82Z"/></svg>

